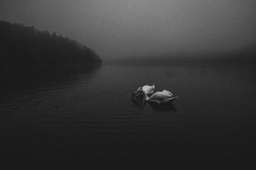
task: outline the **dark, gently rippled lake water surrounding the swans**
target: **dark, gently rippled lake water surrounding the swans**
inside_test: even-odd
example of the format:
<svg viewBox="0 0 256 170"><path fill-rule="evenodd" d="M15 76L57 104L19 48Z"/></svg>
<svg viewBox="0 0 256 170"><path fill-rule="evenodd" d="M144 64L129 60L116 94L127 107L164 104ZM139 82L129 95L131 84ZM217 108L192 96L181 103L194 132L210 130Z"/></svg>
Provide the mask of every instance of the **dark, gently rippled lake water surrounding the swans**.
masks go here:
<svg viewBox="0 0 256 170"><path fill-rule="evenodd" d="M2 68L0 167L255 167L255 73L234 64ZM151 84L179 99L132 103Z"/></svg>

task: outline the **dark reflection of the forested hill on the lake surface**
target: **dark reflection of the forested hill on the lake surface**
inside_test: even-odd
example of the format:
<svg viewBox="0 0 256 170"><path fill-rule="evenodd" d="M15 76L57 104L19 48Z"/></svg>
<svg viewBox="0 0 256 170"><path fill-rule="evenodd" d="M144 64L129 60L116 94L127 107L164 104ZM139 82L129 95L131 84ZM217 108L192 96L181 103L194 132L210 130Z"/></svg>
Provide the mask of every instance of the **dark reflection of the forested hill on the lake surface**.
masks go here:
<svg viewBox="0 0 256 170"><path fill-rule="evenodd" d="M42 66L1 66L1 91L22 90L24 88L50 87L79 81L79 75L92 78L100 65L69 64Z"/></svg>

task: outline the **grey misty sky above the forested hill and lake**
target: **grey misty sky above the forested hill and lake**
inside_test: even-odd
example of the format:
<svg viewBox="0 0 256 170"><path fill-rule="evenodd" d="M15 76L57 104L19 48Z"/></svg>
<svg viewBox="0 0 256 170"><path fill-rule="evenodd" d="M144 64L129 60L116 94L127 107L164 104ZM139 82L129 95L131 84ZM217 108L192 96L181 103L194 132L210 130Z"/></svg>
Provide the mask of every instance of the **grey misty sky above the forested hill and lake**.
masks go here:
<svg viewBox="0 0 256 170"><path fill-rule="evenodd" d="M255 0L1 0L0 20L56 31L103 60L222 52L256 43Z"/></svg>

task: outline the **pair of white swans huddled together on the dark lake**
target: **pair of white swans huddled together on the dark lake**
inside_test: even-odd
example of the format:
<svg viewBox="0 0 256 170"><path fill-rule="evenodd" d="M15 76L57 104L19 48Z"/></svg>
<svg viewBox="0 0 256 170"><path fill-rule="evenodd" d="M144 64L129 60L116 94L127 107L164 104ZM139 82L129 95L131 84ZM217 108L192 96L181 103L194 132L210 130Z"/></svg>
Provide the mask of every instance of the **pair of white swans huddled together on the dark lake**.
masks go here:
<svg viewBox="0 0 256 170"><path fill-rule="evenodd" d="M132 99L136 101L148 101L157 104L164 104L164 103L172 103L178 97L173 96L173 94L167 90L163 90L162 92L155 92L155 85L145 85L143 87L139 87L132 94ZM151 95L151 96L150 96Z"/></svg>

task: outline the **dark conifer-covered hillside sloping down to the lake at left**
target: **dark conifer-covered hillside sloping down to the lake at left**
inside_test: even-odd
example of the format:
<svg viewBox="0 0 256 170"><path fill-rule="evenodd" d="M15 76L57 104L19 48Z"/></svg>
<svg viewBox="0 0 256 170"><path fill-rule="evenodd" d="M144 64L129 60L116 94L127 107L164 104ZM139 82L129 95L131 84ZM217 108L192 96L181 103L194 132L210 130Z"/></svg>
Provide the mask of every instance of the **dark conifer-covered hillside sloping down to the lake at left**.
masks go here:
<svg viewBox="0 0 256 170"><path fill-rule="evenodd" d="M99 55L72 39L35 27L0 21L1 64L102 62Z"/></svg>

